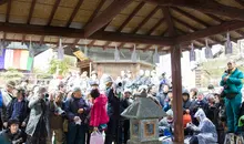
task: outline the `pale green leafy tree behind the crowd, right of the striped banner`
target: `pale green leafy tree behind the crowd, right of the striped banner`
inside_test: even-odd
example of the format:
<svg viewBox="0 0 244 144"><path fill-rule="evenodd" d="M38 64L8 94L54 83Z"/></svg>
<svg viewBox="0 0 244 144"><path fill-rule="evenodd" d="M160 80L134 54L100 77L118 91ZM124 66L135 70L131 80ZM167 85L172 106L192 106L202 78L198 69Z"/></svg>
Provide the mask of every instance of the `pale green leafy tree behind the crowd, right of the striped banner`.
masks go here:
<svg viewBox="0 0 244 144"><path fill-rule="evenodd" d="M49 74L67 74L69 69L73 65L73 61L71 58L64 58L62 61L58 59L51 59L49 62Z"/></svg>

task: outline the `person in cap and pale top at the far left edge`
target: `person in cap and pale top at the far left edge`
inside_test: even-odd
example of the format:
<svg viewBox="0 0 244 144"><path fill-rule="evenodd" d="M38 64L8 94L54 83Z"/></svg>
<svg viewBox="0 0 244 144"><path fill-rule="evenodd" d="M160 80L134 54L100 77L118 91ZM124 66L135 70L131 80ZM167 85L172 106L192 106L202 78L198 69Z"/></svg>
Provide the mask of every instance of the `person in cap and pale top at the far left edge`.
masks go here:
<svg viewBox="0 0 244 144"><path fill-rule="evenodd" d="M7 106L11 102L13 97L13 90L16 83L13 81L9 81L6 84L6 89L0 91L0 114L3 127L7 128L8 126L8 119L7 119Z"/></svg>

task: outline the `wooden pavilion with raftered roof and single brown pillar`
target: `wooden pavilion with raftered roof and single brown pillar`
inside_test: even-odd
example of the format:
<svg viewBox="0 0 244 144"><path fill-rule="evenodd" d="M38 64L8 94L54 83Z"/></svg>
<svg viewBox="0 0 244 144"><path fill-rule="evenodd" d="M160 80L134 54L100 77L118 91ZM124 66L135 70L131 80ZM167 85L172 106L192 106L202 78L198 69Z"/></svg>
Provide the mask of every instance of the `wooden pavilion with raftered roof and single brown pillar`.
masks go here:
<svg viewBox="0 0 244 144"><path fill-rule="evenodd" d="M244 35L243 0L0 0L3 41L171 53L175 143L183 143L181 51Z"/></svg>

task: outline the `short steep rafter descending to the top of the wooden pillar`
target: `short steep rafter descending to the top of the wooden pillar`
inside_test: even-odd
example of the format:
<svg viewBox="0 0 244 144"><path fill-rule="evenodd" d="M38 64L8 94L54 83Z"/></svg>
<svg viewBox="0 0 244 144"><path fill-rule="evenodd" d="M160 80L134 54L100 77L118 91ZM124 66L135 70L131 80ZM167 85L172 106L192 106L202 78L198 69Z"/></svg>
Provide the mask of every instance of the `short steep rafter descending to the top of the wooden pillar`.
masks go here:
<svg viewBox="0 0 244 144"><path fill-rule="evenodd" d="M166 24L167 24L167 32L170 37L174 37L176 35L176 31L174 29L174 23L172 21L172 17L171 17L171 12L170 9L167 7L163 7L162 8Z"/></svg>

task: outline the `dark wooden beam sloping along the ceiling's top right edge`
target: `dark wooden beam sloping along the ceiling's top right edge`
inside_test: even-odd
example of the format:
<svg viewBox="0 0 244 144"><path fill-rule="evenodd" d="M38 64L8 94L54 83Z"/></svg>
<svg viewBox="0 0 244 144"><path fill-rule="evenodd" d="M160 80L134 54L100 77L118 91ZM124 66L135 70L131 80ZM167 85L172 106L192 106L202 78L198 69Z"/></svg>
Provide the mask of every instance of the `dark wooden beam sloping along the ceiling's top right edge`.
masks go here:
<svg viewBox="0 0 244 144"><path fill-rule="evenodd" d="M221 4L213 0L143 0L160 6L185 7L204 13L215 13L236 20L244 20L244 9Z"/></svg>

